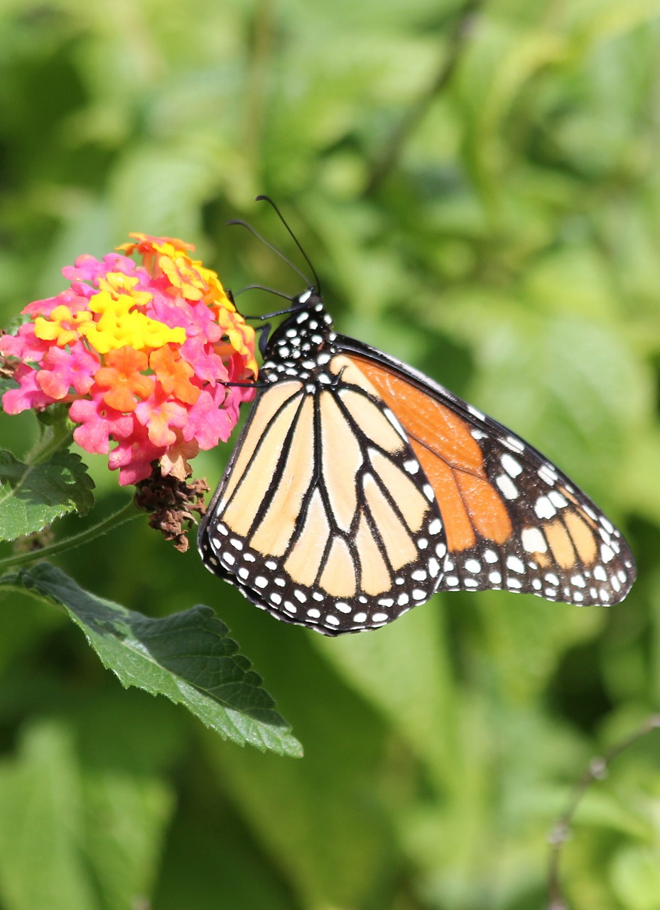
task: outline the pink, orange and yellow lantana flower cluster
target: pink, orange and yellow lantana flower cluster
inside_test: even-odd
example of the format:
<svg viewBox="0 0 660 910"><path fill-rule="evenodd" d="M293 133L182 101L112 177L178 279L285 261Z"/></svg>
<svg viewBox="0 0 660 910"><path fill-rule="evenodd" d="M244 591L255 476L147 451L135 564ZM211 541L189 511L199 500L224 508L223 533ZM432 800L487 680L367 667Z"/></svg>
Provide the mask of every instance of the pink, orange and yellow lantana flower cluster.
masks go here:
<svg viewBox="0 0 660 910"><path fill-rule="evenodd" d="M227 440L253 396L255 333L194 247L130 237L122 252L63 268L70 287L29 304L28 320L0 338L0 353L20 360L3 407L68 403L75 441L109 453L122 485L145 480L155 461L185 480L187 460ZM234 382L247 385L225 385Z"/></svg>

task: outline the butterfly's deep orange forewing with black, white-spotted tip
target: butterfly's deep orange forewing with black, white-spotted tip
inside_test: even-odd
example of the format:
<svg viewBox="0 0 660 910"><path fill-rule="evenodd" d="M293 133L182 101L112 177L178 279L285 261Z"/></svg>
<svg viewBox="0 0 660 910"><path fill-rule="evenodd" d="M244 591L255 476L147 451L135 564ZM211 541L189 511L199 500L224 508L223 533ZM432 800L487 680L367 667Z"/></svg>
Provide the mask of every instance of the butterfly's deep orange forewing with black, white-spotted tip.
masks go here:
<svg viewBox="0 0 660 910"><path fill-rule="evenodd" d="M635 581L631 551L555 465L417 370L354 339L336 344L395 412L435 491L448 548L438 590L624 599Z"/></svg>

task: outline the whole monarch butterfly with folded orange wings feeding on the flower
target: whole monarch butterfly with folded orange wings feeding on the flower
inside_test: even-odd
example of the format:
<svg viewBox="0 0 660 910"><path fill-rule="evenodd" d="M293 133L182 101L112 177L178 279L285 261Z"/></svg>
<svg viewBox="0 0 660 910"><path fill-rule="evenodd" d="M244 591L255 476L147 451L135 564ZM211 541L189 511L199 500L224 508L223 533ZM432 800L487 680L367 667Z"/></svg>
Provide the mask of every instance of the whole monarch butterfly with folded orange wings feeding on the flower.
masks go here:
<svg viewBox="0 0 660 910"><path fill-rule="evenodd" d="M540 452L335 334L314 286L284 313L263 336L255 403L200 525L209 571L325 635L383 626L435 591L625 598L625 540Z"/></svg>

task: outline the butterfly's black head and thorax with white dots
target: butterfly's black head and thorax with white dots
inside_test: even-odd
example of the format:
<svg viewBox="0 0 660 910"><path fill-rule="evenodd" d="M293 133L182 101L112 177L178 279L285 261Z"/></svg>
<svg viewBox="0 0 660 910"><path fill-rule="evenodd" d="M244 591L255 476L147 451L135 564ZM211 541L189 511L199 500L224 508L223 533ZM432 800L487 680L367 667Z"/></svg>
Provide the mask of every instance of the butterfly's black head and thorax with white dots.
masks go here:
<svg viewBox="0 0 660 910"><path fill-rule="evenodd" d="M294 311L268 339L260 379L318 378L335 354L333 320L314 288L294 299Z"/></svg>

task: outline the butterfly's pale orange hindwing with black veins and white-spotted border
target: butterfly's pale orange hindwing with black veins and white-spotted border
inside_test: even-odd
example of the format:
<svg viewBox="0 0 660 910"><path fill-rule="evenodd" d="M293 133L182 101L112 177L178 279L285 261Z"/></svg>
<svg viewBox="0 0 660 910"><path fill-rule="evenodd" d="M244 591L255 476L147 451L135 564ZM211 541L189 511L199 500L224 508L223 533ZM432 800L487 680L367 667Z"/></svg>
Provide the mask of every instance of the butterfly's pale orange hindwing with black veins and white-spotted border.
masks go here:
<svg viewBox="0 0 660 910"><path fill-rule="evenodd" d="M328 635L425 602L446 552L405 431L355 365L333 363L331 383L325 373L257 392L198 538L210 571Z"/></svg>

